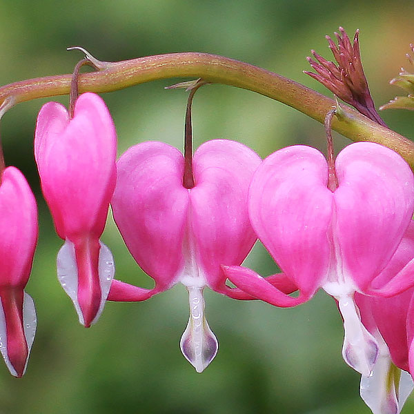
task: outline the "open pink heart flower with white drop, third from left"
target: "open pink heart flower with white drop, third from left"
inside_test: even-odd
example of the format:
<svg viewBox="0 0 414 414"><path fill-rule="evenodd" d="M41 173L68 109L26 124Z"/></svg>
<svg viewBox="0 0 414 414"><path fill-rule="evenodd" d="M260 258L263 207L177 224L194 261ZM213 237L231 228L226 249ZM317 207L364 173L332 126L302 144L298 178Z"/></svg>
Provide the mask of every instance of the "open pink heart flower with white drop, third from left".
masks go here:
<svg viewBox="0 0 414 414"><path fill-rule="evenodd" d="M260 162L255 152L235 141L208 141L193 157L193 188L183 184L183 155L167 144L138 144L117 162L113 215L130 253L155 280L155 288L114 280L108 299L145 300L184 284L190 319L181 351L197 372L217 353L217 339L204 317L204 287L253 299L226 286L220 264L241 264L256 240L246 200ZM272 281L277 284L277 277Z"/></svg>

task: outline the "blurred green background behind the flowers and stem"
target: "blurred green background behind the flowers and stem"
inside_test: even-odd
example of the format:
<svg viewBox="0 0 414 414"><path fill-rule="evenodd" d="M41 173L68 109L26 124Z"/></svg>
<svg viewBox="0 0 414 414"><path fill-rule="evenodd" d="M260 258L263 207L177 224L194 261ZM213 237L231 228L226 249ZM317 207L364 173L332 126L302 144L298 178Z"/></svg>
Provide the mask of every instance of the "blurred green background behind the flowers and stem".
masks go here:
<svg viewBox="0 0 414 414"><path fill-rule="evenodd" d="M398 95L388 80L414 41L408 1L297 0L12 1L0 3L0 83L72 71L83 46L106 61L166 52L225 55L273 70L328 93L302 70L338 26L361 30L362 58L379 106ZM182 148L186 94L164 90L181 79L155 81L103 95L115 120L119 154L146 140ZM67 103L67 97L57 99ZM298 308L236 302L208 291L206 313L219 353L197 374L179 351L188 319L183 286L140 304L108 303L99 323L85 329L55 275L62 242L39 191L32 136L46 99L21 103L1 123L6 164L28 177L39 201L40 237L27 292L37 306L38 331L21 380L0 364L0 413L250 414L370 413L359 398L359 375L342 361L342 320L319 293ZM413 138L413 115L383 114L391 128ZM253 92L202 88L193 106L195 146L236 139L265 157L290 144L324 150L320 124ZM337 150L348 140L335 135ZM115 256L118 279L150 287L130 257L112 217L103 235ZM248 266L276 270L257 245ZM414 411L411 397L403 410Z"/></svg>

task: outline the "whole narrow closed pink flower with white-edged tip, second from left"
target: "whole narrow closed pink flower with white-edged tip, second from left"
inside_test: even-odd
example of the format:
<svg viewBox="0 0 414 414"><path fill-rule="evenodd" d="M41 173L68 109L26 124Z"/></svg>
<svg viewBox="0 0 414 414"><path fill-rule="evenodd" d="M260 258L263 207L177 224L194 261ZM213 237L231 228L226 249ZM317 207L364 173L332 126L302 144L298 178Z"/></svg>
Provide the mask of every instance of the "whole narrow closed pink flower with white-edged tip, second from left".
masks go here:
<svg viewBox="0 0 414 414"><path fill-rule="evenodd" d="M72 119L56 102L39 112L34 156L57 234L65 240L58 278L85 326L101 314L115 272L99 237L115 188L116 146L115 126L98 95L81 95Z"/></svg>

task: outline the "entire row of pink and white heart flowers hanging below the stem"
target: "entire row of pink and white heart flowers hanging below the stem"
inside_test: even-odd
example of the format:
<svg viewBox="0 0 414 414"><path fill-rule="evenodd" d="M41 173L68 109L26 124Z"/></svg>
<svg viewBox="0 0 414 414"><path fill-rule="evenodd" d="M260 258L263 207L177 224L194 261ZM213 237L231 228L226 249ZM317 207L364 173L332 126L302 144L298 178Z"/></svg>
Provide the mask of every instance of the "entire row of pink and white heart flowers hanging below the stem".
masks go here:
<svg viewBox="0 0 414 414"><path fill-rule="evenodd" d="M378 144L351 144L336 159L331 189L327 161L314 148L291 146L262 161L242 144L213 140L195 152L194 186L186 188L176 148L144 142L116 162L116 146L115 126L97 95L81 95L72 118L55 102L39 112L35 158L64 240L57 273L81 324L95 323L106 300L142 301L184 284L190 317L181 351L201 372L218 348L205 318L206 286L282 307L323 288L342 313L343 356L362 374L362 398L373 413L400 411L414 373L414 179L399 155ZM114 260L99 240L110 204L154 288L112 279ZM21 376L35 328L23 288L37 217L16 168L1 175L0 209L0 351ZM257 237L282 274L261 277L240 266ZM290 296L295 290L299 295Z"/></svg>

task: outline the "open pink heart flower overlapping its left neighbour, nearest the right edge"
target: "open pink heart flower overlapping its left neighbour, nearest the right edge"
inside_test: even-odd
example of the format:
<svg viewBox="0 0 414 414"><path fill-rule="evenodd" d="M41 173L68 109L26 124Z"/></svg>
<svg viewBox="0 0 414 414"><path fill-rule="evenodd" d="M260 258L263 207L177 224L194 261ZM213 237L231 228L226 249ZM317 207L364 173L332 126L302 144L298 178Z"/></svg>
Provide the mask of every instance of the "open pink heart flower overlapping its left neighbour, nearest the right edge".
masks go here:
<svg viewBox="0 0 414 414"><path fill-rule="evenodd" d="M368 142L342 150L335 168L339 186L331 191L324 156L314 148L292 146L266 158L250 184L253 228L293 279L299 297L285 295L248 268L224 266L224 272L238 288L275 306L306 302L324 288L344 317L344 359L368 376L378 348L359 319L353 294L392 296L413 284L414 261L389 282L372 282L413 215L414 180L400 155Z"/></svg>

